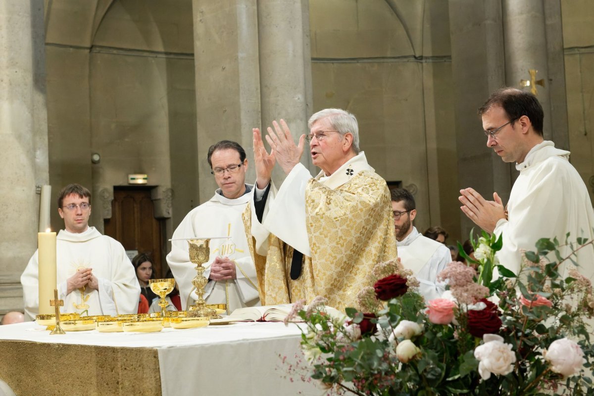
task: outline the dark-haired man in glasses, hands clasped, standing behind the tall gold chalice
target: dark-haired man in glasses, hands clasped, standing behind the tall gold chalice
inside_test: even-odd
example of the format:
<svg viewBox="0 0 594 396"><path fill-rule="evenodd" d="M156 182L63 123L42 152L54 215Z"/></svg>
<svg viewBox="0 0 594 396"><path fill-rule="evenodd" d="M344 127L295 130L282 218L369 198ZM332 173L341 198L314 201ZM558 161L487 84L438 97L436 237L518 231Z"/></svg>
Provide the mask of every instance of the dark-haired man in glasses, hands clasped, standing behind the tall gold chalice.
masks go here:
<svg viewBox="0 0 594 396"><path fill-rule="evenodd" d="M204 276L209 280L204 295L206 302L226 303L229 312L260 305L254 262L241 217L252 200L254 188L245 183L248 170L245 150L236 142L223 140L211 145L207 159L219 188L210 200L192 209L182 220L173 233L172 250L167 256L169 268L179 284L182 308L194 304L198 296L191 283L196 270L189 261L188 242L179 239L213 236L229 236L229 239L210 241L210 260L204 264ZM268 185L270 174L266 170L264 178ZM263 194L268 194L269 189L270 185ZM256 229L252 233L260 242L268 237L265 230L263 235Z"/></svg>

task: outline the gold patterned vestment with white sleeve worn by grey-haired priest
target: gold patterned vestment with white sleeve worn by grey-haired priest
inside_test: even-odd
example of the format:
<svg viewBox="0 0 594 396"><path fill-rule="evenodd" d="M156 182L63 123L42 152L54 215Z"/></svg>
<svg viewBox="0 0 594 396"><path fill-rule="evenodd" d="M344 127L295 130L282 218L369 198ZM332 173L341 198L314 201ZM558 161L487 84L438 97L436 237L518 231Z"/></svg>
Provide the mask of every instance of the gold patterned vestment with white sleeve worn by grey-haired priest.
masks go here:
<svg viewBox="0 0 594 396"><path fill-rule="evenodd" d="M253 212L244 215L257 222ZM356 307L357 294L373 284L374 265L397 256L390 193L363 152L331 176L321 172L312 178L297 164L270 203L263 224L273 234L267 256L252 249L263 305L300 299L309 303L319 295L341 311ZM292 280L295 249L304 259L301 275Z"/></svg>

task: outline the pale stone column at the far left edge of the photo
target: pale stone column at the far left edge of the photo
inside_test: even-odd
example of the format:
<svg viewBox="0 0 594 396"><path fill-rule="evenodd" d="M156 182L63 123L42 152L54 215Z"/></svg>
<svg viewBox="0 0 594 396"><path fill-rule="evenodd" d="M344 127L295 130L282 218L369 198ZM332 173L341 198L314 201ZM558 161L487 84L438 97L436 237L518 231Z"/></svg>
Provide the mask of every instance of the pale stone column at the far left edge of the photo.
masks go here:
<svg viewBox="0 0 594 396"><path fill-rule="evenodd" d="M0 313L23 309L20 275L37 248L36 186L49 180L44 34L43 0L2 2Z"/></svg>

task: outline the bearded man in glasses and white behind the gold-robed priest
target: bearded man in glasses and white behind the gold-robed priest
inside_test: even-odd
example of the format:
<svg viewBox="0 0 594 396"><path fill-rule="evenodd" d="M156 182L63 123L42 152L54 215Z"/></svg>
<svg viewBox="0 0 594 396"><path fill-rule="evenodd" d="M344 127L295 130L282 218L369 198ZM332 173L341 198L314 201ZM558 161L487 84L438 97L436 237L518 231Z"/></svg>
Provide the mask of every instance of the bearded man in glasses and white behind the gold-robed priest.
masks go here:
<svg viewBox="0 0 594 396"><path fill-rule="evenodd" d="M422 236L412 225L416 217L415 198L409 191L396 188L390 191L396 246L402 265L412 270L419 280L419 293L425 300L437 299L444 292L443 284L436 284L437 274L451 262L450 249L443 243Z"/></svg>

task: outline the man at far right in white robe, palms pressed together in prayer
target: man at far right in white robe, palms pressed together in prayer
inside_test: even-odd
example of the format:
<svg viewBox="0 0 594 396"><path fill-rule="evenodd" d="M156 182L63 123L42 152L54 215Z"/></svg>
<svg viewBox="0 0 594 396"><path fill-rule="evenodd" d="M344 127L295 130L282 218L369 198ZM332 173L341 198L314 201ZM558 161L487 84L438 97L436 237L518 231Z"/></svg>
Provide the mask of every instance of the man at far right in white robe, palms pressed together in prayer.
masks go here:
<svg viewBox="0 0 594 396"><path fill-rule="evenodd" d="M520 175L511 189L504 208L497 192L486 201L472 188L460 190L462 211L486 232L503 235L498 252L501 264L517 273L522 249L534 250L542 237L565 244L578 237L594 238L594 211L582 178L569 163L569 152L545 141L542 132L544 112L536 97L516 88L503 88L479 109L487 138L504 162L516 163ZM567 246L561 247L567 256ZM594 247L586 246L577 254L579 271L592 278ZM564 265L567 276L573 265Z"/></svg>

